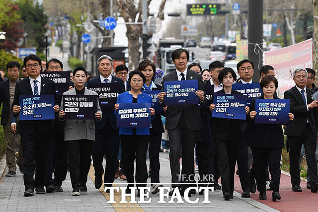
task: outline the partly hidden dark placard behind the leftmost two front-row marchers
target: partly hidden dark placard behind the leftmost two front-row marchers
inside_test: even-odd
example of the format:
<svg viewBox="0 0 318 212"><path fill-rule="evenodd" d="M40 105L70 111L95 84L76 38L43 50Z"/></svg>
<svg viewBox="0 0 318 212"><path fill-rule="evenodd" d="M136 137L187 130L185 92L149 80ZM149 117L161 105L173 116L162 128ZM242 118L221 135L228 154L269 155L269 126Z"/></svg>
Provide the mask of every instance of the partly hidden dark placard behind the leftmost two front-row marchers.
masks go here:
<svg viewBox="0 0 318 212"><path fill-rule="evenodd" d="M41 72L40 76L54 81L56 95L63 95L65 91L69 90L71 84L69 71L45 71Z"/></svg>

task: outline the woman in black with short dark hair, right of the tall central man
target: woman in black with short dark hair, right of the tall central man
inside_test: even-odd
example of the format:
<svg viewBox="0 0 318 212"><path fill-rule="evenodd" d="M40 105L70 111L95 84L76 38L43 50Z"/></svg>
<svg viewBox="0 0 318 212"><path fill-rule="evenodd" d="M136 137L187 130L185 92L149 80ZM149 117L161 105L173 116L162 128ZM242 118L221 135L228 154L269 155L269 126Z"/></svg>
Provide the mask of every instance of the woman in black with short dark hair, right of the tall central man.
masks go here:
<svg viewBox="0 0 318 212"><path fill-rule="evenodd" d="M231 68L224 68L218 76L219 81L223 84L223 89L216 93L242 95L232 89L236 78L237 75ZM215 104L211 104L210 110L212 111L215 107ZM245 106L245 112L248 114L248 106ZM230 198L233 199L234 172L238 156L239 141L247 124L244 120L212 118L212 125L223 195L225 200L230 200Z"/></svg>

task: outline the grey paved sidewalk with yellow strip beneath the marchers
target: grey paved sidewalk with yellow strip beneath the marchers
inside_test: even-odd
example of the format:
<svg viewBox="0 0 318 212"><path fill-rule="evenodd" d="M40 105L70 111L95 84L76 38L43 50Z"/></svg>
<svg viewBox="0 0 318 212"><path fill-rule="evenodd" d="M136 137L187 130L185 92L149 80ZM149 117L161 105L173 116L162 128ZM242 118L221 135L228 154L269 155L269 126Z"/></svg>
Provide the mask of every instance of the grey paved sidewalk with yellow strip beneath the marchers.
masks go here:
<svg viewBox="0 0 318 212"><path fill-rule="evenodd" d="M2 158L5 161L5 158ZM105 164L105 160L104 160ZM164 186L170 186L170 165L168 153L160 152L160 182L165 183ZM149 167L149 161L148 161ZM4 170L4 173L7 172ZM0 173L1 175L2 173ZM159 195L150 195L152 198L151 204L121 204L121 195L115 192L114 198L116 204L109 204L109 194L106 194L102 186L101 189L96 190L94 187L94 168L91 166L89 177L87 180L87 195L80 195L79 197L72 197L72 186L70 175L68 173L67 179L63 182L62 188L64 192L55 192L47 194L34 194L33 197L24 197L25 191L23 185L23 175L17 170L16 177L5 177L3 175L0 180L0 211L48 211L48 212L65 212L65 211L191 211L191 212L205 212L205 211L241 211L241 212L254 212L254 211L276 211L258 201L250 198L241 198L240 194L235 192L234 199L224 201L221 190L209 192L210 204L203 204L204 197L201 195L192 195L190 198L194 201L199 198L197 204L159 204ZM127 181L116 179L113 186L124 187ZM237 182L237 185L239 183ZM150 186L150 178L148 178L148 186ZM129 201L129 198L126 199ZM136 197L136 201L139 198ZM169 199L165 199L168 202ZM182 198L182 200L184 200ZM176 202L176 199L175 199Z"/></svg>

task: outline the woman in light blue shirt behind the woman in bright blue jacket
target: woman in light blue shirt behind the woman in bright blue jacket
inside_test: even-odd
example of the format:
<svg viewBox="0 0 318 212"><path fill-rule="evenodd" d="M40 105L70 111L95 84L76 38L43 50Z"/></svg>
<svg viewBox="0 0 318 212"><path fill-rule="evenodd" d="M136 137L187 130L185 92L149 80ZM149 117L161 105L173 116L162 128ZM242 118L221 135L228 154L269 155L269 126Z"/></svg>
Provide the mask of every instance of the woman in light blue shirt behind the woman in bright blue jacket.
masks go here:
<svg viewBox="0 0 318 212"><path fill-rule="evenodd" d="M156 66L150 60L144 60L140 62L138 66L140 70L146 77L146 82L142 86L141 90L161 90L161 86L154 82L156 74ZM150 160L150 171L149 175L151 177L151 193L157 194L159 192L159 152L161 145L161 136L164 132L164 128L161 121L160 114L156 114L154 121L152 122L152 128L150 129L149 137L149 160ZM151 174L150 174L151 173Z"/></svg>

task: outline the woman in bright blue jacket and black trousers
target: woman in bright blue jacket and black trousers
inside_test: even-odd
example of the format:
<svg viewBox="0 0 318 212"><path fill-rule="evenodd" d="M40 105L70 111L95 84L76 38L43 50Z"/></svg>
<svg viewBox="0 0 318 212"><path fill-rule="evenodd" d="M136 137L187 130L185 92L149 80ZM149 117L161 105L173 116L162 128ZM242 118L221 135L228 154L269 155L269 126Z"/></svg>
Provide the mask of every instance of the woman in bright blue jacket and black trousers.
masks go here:
<svg viewBox="0 0 318 212"><path fill-rule="evenodd" d="M115 114L120 108L120 103L150 103L153 105L153 98L146 93L141 92L142 86L146 82L146 77L139 70L129 73L129 84L131 90L118 95L115 104ZM150 108L152 121L155 115L155 109ZM134 186L134 160L136 158L136 186L146 187L147 185L147 147L149 142L149 128L119 128L119 136L121 140L123 165L127 177L128 188L126 193L131 193L130 187ZM139 197L138 189L137 196Z"/></svg>

